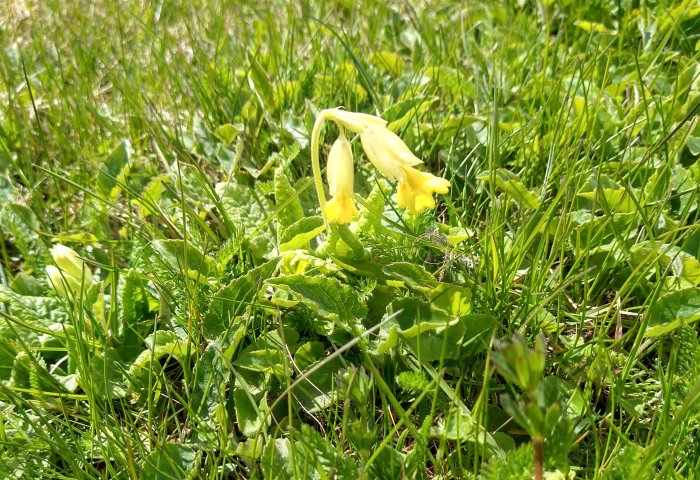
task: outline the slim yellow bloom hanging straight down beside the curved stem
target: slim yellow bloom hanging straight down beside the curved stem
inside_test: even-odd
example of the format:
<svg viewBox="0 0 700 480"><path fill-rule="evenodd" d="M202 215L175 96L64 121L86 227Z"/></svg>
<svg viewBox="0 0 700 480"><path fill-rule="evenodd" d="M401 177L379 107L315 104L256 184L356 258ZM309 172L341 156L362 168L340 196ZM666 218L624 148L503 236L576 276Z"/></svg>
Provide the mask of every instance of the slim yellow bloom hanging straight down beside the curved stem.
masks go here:
<svg viewBox="0 0 700 480"><path fill-rule="evenodd" d="M350 223L359 215L355 206L352 148L343 132L328 153L326 176L331 198L324 208L324 213L331 223Z"/></svg>

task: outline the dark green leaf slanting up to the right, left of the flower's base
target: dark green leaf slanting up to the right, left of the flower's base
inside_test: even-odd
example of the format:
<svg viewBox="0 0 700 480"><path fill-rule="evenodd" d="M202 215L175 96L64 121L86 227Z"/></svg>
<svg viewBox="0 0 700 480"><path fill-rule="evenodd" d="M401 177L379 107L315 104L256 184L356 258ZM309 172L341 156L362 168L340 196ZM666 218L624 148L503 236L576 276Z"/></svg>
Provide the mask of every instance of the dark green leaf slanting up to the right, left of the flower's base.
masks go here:
<svg viewBox="0 0 700 480"><path fill-rule="evenodd" d="M232 326L233 319L253 302L263 282L273 275L278 264L279 260L264 263L216 292L202 325L208 340L214 340Z"/></svg>

